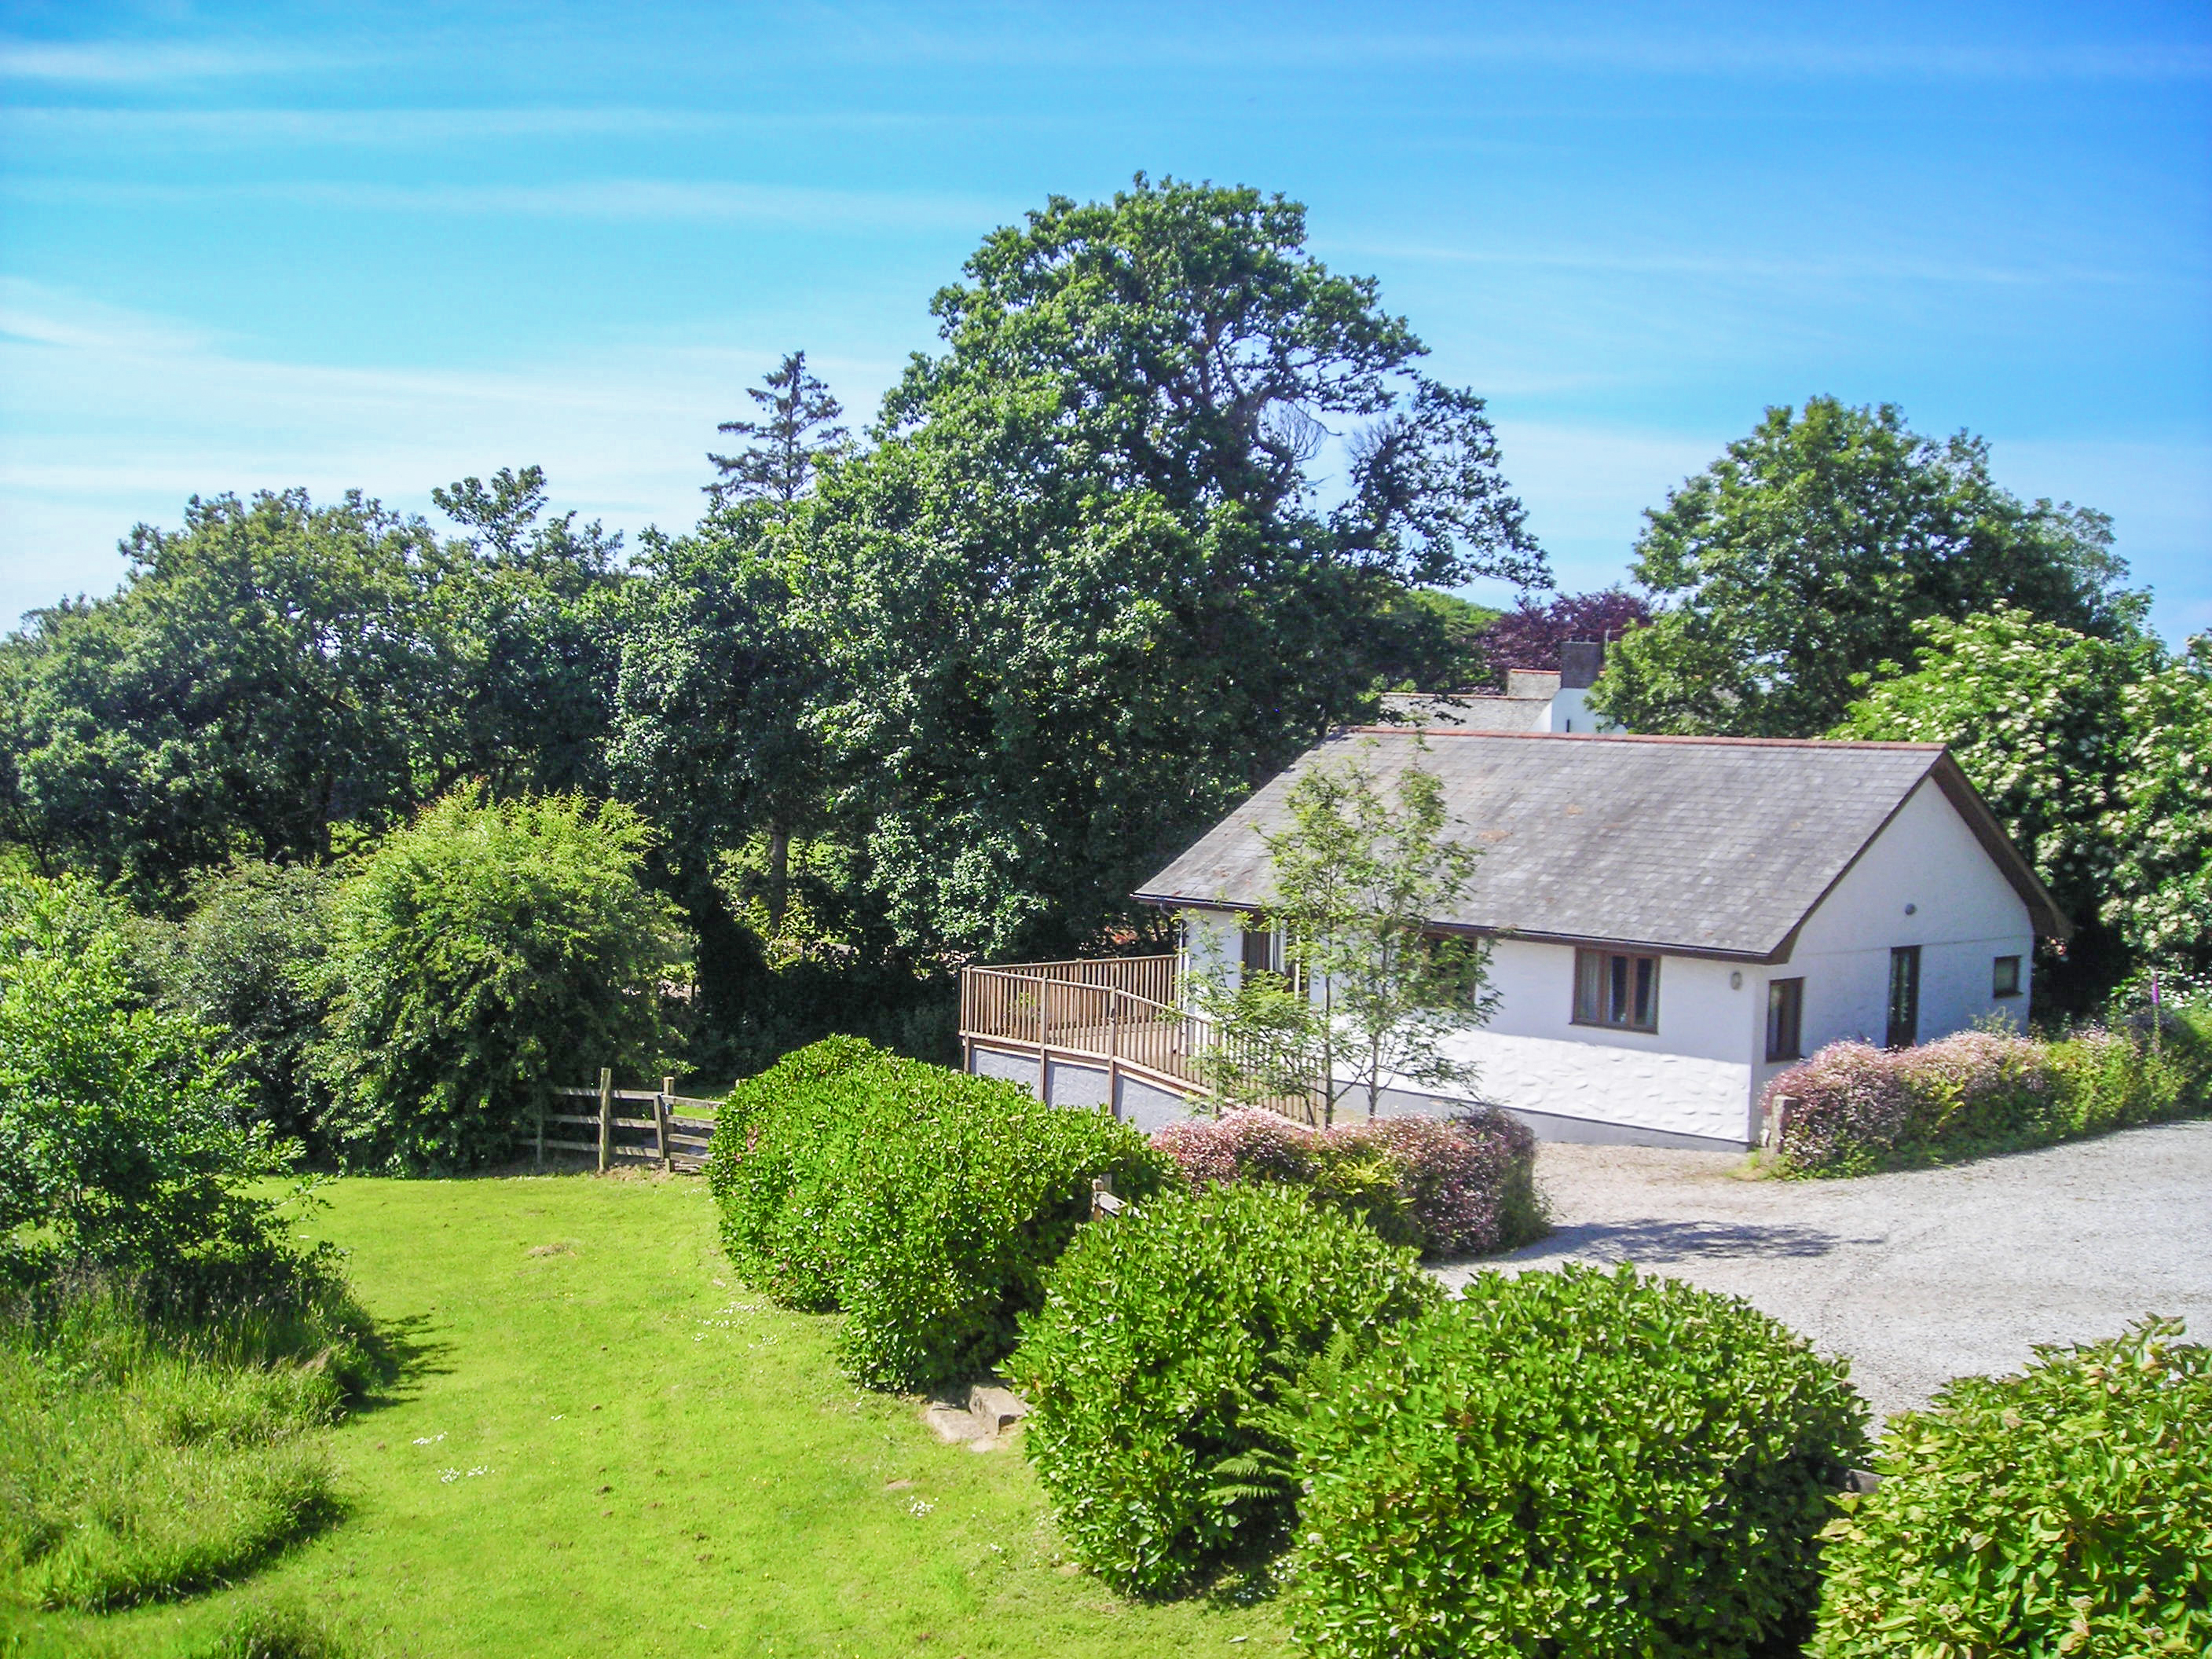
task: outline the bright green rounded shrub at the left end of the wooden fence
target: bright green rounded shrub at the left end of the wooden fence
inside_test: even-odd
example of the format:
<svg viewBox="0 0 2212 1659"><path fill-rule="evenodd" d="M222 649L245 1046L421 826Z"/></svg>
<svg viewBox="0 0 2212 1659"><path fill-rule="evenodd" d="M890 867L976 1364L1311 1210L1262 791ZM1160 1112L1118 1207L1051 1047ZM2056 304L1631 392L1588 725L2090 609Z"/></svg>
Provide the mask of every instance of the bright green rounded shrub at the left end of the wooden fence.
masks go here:
<svg viewBox="0 0 2212 1659"><path fill-rule="evenodd" d="M546 1091L659 1071L679 947L639 883L648 843L615 801L449 794L345 878L316 1068L347 1159L478 1168L520 1148Z"/></svg>

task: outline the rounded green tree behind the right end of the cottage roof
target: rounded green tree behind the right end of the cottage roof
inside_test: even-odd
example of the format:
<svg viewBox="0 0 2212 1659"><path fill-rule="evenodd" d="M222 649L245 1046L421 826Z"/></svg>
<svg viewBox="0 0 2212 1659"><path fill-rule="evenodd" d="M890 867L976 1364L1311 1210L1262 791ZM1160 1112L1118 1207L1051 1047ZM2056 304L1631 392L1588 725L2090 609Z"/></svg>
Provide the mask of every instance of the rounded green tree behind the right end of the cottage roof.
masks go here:
<svg viewBox="0 0 2212 1659"><path fill-rule="evenodd" d="M2143 606L2104 513L2022 502L1982 438L1836 398L1767 409L1646 513L1630 571L1657 615L1613 648L1593 703L1635 732L1814 737L1927 617L2011 604L2124 639Z"/></svg>

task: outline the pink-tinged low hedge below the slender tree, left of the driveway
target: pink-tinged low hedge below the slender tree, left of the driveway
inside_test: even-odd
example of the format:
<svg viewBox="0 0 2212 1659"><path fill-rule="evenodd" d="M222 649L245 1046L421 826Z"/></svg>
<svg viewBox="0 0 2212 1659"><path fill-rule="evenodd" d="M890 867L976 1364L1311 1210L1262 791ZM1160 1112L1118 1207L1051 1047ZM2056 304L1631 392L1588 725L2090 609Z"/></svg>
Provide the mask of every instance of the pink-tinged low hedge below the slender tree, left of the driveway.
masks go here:
<svg viewBox="0 0 2212 1659"><path fill-rule="evenodd" d="M1464 1117L1380 1117L1310 1130L1276 1113L1234 1110L1152 1137L1192 1186L1274 1181L1360 1217L1425 1256L1478 1256L1542 1239L1535 1135L1475 1108Z"/></svg>

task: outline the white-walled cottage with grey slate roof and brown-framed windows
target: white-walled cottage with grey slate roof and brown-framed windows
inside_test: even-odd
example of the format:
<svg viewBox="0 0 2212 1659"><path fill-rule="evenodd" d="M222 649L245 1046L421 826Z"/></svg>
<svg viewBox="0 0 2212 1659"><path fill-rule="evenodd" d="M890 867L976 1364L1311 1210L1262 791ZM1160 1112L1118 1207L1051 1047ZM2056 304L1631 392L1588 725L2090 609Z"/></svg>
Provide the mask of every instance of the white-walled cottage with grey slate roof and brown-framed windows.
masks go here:
<svg viewBox="0 0 2212 1659"><path fill-rule="evenodd" d="M1531 688L1535 690L1535 688ZM1475 880L1438 931L1491 942L1495 1018L1453 1048L1546 1139L1741 1148L1765 1082L1820 1044L2020 1024L2035 938L2068 925L1931 743L1378 726L1340 732L1137 894L1190 951L1265 964L1261 838L1354 745L1444 783ZM1394 1093L1389 1108L1460 1102Z"/></svg>

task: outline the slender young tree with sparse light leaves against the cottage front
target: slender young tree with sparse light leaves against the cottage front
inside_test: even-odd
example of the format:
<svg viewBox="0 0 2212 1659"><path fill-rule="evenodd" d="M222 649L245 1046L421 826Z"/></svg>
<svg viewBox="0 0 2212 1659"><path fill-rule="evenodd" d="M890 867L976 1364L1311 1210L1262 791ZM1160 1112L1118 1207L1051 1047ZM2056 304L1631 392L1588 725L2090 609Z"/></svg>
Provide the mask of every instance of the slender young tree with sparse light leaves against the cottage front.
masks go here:
<svg viewBox="0 0 2212 1659"><path fill-rule="evenodd" d="M1363 752L1298 779L1287 827L1265 834L1274 898L1245 914L1248 933L1274 940L1270 964L1190 973L1221 1035L1199 1055L1217 1095L1312 1097L1327 1128L1340 1106L1374 1117L1391 1084L1473 1086L1444 1037L1486 1020L1495 995L1486 949L1429 925L1475 874L1478 849L1447 830L1433 772L1409 768L1385 790Z"/></svg>

